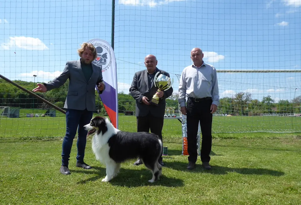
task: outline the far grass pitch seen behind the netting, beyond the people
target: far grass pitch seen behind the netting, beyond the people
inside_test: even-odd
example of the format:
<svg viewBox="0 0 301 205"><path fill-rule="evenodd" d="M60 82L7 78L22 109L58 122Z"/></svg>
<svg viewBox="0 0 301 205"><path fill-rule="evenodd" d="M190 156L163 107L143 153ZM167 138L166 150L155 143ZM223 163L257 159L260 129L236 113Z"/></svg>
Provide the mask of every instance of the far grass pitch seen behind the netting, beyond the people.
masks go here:
<svg viewBox="0 0 301 205"><path fill-rule="evenodd" d="M38 113L38 111L36 111ZM135 116L119 116L119 129L136 131ZM65 117L0 118L0 138L8 137L63 137ZM287 131L301 132L301 117L285 116L214 116L213 133ZM182 135L181 122L165 119L163 136Z"/></svg>

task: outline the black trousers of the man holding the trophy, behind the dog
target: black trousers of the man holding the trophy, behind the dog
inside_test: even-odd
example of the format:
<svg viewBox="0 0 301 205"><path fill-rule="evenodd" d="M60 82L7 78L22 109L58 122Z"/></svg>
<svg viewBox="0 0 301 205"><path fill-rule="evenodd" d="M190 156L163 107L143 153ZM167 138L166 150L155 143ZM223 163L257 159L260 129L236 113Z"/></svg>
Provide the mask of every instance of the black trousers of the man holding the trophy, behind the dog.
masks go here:
<svg viewBox="0 0 301 205"><path fill-rule="evenodd" d="M157 134L162 141L163 117L154 117L148 114L144 117L137 117L137 132L149 132ZM163 141L162 141L163 143ZM159 161L162 160L163 149Z"/></svg>

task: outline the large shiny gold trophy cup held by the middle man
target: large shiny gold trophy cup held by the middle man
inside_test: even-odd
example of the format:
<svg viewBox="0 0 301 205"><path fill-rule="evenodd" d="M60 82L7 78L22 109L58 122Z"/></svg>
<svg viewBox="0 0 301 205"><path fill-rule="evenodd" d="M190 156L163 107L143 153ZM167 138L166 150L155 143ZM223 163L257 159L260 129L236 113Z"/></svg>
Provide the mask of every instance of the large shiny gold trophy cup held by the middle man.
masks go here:
<svg viewBox="0 0 301 205"><path fill-rule="evenodd" d="M161 90L166 91L168 90L173 84L170 80L170 77L160 74L160 72L157 72L154 77L154 86L158 88L157 92L160 92ZM157 105L159 104L160 98L158 97L157 93L151 98L150 104Z"/></svg>

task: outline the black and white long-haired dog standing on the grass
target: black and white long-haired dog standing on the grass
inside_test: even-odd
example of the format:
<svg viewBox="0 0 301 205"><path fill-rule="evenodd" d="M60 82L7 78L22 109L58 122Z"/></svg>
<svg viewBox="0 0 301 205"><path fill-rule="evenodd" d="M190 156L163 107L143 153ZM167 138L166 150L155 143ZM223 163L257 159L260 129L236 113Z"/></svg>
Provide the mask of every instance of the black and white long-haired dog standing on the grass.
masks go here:
<svg viewBox="0 0 301 205"><path fill-rule="evenodd" d="M106 177L102 182L108 182L119 173L122 162L140 158L151 170L153 183L162 175L162 166L158 159L162 151L162 142L153 133L125 132L116 129L112 123L100 116L94 117L90 124L84 126L87 136L92 135L92 149L96 159L106 165Z"/></svg>

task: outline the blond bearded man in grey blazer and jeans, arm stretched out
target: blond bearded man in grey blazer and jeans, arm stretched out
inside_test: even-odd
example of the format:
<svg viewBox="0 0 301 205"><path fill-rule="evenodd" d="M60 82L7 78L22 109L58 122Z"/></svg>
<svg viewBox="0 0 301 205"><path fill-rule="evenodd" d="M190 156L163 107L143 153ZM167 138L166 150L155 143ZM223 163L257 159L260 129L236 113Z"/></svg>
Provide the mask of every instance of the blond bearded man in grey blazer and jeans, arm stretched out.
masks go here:
<svg viewBox="0 0 301 205"><path fill-rule="evenodd" d="M68 168L73 139L78 130L76 167L91 169L84 162L87 131L84 125L92 119L95 111L95 85L102 93L105 89L101 67L92 64L97 52L92 44L84 43L78 49L79 60L66 63L63 73L49 83L38 83L33 92L46 92L62 86L69 78L69 88L64 108L66 108L66 135L62 145L62 174L70 174Z"/></svg>

